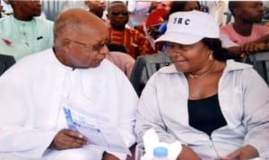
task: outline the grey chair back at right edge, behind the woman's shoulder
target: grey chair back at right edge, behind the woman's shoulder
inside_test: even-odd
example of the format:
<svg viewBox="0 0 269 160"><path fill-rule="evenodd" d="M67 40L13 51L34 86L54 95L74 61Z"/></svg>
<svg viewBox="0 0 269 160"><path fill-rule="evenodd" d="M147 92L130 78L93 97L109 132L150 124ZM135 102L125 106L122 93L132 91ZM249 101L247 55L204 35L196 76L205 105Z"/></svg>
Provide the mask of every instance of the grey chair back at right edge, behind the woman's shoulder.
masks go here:
<svg viewBox="0 0 269 160"><path fill-rule="evenodd" d="M269 51L251 55L249 59L256 71L265 79L266 83L269 84Z"/></svg>

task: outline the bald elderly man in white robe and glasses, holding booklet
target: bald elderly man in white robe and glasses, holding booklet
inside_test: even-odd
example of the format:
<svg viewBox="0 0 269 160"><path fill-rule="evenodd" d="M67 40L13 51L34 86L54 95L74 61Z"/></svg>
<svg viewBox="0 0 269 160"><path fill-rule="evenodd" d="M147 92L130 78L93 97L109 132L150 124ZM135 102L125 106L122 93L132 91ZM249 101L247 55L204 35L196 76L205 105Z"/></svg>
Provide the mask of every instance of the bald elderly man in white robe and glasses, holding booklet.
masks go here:
<svg viewBox="0 0 269 160"><path fill-rule="evenodd" d="M56 19L54 49L23 58L1 76L0 159L126 159L138 98L105 59L108 35L100 18L70 9ZM88 132L71 129L70 121Z"/></svg>

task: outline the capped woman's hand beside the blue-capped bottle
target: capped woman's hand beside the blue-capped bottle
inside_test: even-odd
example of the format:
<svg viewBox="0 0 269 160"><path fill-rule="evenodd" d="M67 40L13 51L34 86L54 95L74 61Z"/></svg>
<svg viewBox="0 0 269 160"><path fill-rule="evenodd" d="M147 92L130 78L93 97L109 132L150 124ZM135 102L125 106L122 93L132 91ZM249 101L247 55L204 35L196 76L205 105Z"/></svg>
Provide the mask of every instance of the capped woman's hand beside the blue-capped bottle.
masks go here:
<svg viewBox="0 0 269 160"><path fill-rule="evenodd" d="M199 156L195 154L195 151L193 151L190 147L187 147L186 145L182 145L182 150L180 154L178 155L177 160L201 160Z"/></svg>

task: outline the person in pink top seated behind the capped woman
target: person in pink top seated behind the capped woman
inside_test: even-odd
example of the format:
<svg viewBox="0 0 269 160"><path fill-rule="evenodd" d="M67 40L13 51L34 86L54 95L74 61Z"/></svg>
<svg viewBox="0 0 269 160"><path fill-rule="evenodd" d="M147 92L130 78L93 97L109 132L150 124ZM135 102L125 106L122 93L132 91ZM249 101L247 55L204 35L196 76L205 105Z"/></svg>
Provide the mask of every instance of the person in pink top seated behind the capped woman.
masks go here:
<svg viewBox="0 0 269 160"><path fill-rule="evenodd" d="M259 25L264 17L262 1L230 1L234 22L221 27L222 46L237 58L269 50L269 29Z"/></svg>

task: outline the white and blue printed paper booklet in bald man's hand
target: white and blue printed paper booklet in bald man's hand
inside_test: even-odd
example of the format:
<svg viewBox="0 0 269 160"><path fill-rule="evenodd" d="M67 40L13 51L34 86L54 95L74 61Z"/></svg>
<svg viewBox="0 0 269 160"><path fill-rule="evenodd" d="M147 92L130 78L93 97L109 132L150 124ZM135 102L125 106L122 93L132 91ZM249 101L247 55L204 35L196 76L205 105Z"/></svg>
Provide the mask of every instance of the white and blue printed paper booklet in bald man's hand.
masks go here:
<svg viewBox="0 0 269 160"><path fill-rule="evenodd" d="M130 154L117 129L108 127L108 120L82 109L64 108L69 129L80 132L89 145L104 148L107 151ZM106 124L105 124L106 123Z"/></svg>

